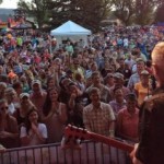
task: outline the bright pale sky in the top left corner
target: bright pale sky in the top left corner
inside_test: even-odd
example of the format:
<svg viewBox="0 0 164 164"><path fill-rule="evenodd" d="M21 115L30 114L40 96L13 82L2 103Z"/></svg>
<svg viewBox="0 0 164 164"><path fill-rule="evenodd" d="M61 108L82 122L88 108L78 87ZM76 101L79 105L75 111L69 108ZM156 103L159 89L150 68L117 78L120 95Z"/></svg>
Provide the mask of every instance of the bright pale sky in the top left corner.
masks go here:
<svg viewBox="0 0 164 164"><path fill-rule="evenodd" d="M26 0L26 1L31 1L31 0ZM3 2L0 4L0 8L16 9L17 2L19 0L3 0Z"/></svg>

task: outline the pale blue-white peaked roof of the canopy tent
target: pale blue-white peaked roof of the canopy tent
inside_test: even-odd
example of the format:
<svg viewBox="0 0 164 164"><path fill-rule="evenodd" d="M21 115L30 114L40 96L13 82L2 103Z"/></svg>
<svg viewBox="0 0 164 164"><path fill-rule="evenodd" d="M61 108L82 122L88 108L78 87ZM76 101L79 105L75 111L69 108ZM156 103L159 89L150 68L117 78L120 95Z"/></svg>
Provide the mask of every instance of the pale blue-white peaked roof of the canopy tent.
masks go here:
<svg viewBox="0 0 164 164"><path fill-rule="evenodd" d="M79 24L68 21L63 23L61 26L50 31L50 35L59 36L59 35L90 35L91 31L86 30Z"/></svg>

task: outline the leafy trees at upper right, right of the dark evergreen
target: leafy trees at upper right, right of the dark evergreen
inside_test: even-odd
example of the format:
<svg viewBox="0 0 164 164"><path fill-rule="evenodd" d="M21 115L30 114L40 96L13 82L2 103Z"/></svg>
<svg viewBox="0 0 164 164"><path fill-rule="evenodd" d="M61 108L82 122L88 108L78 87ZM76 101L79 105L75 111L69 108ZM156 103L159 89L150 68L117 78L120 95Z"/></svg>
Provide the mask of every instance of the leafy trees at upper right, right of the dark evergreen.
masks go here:
<svg viewBox="0 0 164 164"><path fill-rule="evenodd" d="M162 0L113 0L114 14L125 25L145 25L153 22L156 4Z"/></svg>

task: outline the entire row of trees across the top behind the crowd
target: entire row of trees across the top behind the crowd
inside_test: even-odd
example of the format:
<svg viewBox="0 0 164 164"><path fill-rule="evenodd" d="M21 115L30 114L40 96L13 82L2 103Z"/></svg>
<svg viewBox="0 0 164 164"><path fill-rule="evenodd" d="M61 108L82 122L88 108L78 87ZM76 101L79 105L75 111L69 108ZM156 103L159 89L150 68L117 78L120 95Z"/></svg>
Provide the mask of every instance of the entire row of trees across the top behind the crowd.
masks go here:
<svg viewBox="0 0 164 164"><path fill-rule="evenodd" d="M149 24L156 4L162 3L163 0L20 0L19 7L35 17L39 27L47 25L50 30L71 20L97 32L112 11L125 25Z"/></svg>

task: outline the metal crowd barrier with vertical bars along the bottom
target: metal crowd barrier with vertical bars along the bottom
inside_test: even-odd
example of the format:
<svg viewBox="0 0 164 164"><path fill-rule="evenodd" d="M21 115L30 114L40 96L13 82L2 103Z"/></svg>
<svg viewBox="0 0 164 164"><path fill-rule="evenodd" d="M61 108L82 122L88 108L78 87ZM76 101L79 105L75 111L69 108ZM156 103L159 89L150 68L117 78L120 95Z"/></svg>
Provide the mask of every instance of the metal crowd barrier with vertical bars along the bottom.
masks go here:
<svg viewBox="0 0 164 164"><path fill-rule="evenodd" d="M8 149L0 164L129 164L128 153L101 142L84 141L81 149L63 150L60 143Z"/></svg>

